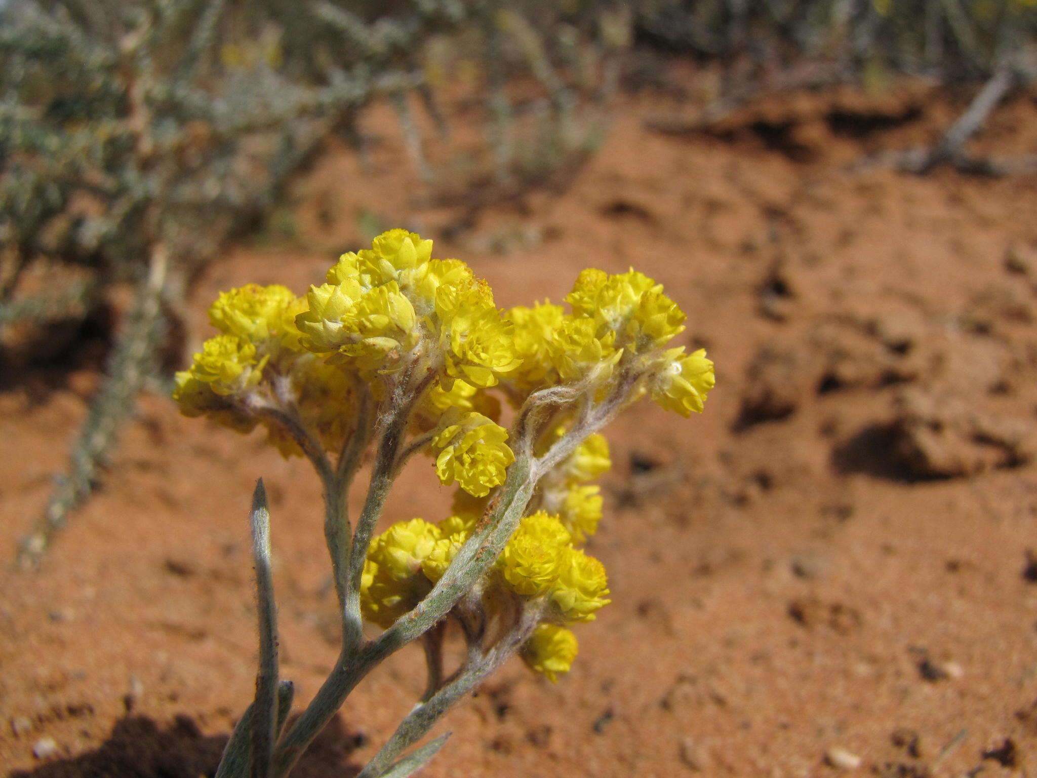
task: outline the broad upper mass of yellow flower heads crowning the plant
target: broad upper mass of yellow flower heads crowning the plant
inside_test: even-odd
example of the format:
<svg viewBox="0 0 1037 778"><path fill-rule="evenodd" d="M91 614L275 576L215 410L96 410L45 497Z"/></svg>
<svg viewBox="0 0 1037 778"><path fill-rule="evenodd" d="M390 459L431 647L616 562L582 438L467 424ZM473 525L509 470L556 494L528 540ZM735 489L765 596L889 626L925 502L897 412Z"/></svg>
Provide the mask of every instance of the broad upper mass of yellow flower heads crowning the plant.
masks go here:
<svg viewBox="0 0 1037 778"><path fill-rule="evenodd" d="M569 311L548 302L499 311L467 265L431 253L431 241L393 229L370 249L343 254L305 298L280 285L223 293L209 310L220 334L177 373L180 409L241 432L261 423L285 455L298 454L296 439L273 420L287 408L335 450L354 424L358 382L389 402L411 380L404 376L427 377L415 382L423 388L411 427L430 433L426 450L440 480L476 497L500 485L514 460L491 387L502 385L514 404L581 382L600 397L623 364L636 373L630 398L650 392L684 416L702 410L712 362L702 351L664 348L684 315L650 278L587 270L566 297ZM602 446L591 438L582 457L593 463ZM584 485L599 473L580 472L572 457L566 467L577 469L555 484L550 509L579 543L600 516L596 488Z"/></svg>

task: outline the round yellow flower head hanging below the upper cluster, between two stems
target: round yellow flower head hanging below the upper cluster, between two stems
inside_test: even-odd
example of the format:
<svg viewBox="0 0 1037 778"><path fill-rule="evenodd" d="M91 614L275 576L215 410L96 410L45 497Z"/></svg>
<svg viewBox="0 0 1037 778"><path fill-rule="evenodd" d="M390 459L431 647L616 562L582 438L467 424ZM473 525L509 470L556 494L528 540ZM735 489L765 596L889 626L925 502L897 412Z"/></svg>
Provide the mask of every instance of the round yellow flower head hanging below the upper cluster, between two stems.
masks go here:
<svg viewBox="0 0 1037 778"><path fill-rule="evenodd" d="M447 413L432 439L436 474L443 484L457 481L473 497L504 482L514 454L504 442L508 432L479 413Z"/></svg>

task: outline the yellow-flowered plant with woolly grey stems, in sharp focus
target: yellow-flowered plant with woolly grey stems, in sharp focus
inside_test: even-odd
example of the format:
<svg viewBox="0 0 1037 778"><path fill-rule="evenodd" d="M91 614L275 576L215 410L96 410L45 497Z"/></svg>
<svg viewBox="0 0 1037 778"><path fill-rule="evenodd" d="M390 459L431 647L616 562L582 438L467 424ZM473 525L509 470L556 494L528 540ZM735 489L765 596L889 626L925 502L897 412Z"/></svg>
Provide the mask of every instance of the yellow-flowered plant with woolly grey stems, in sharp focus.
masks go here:
<svg viewBox="0 0 1037 778"><path fill-rule="evenodd" d="M344 254L306 297L278 285L223 293L209 309L220 334L177 373L185 414L239 432L261 426L285 456L312 463L342 621L334 669L285 727L291 685L278 678L260 482L256 696L218 776L287 775L356 685L412 641L424 648L427 686L361 778L419 770L443 739L403 754L509 656L552 682L567 672L571 628L609 604L605 566L582 548L601 518L593 481L610 467L598 430L643 395L685 417L701 412L713 386L705 352L671 346L684 314L640 273L585 270L568 309L500 310L465 262L431 252L431 241L395 229ZM354 521L346 495L369 450ZM376 534L393 481L416 454L456 487L452 515ZM451 624L467 650L447 672Z"/></svg>

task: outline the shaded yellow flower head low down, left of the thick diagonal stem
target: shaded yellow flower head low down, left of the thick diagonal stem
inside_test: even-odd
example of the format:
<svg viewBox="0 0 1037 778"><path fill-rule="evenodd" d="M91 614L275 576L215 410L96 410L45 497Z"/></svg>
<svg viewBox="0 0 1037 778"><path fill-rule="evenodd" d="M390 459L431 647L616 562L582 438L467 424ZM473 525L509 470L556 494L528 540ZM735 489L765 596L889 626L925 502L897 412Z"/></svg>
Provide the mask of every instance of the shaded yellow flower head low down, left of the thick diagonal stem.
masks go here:
<svg viewBox="0 0 1037 778"><path fill-rule="evenodd" d="M428 593L431 585L422 564L441 537L435 524L412 519L371 540L360 592L365 618L388 628Z"/></svg>

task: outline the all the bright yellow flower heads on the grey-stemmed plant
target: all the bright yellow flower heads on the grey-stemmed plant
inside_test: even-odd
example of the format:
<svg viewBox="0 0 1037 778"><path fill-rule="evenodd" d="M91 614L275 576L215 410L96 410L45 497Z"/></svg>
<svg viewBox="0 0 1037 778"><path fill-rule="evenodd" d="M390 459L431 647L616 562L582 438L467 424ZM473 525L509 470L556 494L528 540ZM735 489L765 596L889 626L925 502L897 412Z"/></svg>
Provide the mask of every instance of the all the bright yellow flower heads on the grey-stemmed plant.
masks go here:
<svg viewBox="0 0 1037 778"><path fill-rule="evenodd" d="M660 284L633 270L586 270L565 300L569 310L548 302L499 310L467 265L433 259L431 241L390 230L370 249L343 254L305 297L256 284L220 295L209 309L220 334L177 373L174 397L189 416L241 432L263 425L287 456L303 451L285 414L336 451L356 424L361 392L379 413L411 392L410 428L424 436L440 481L456 483L467 504L439 524L397 524L372 543L364 612L388 626L443 575L514 461L501 404L487 390L517 408L542 389L569 386L601 401L622 386L624 401L649 394L683 416L702 411L712 363L701 350L668 348L684 314ZM538 453L572 413L559 410ZM524 657L552 678L576 655L564 624L592 619L609 602L604 567L578 548L601 516L588 481L608 467L608 444L593 435L546 473L482 592L489 610L509 598L543 605Z"/></svg>

